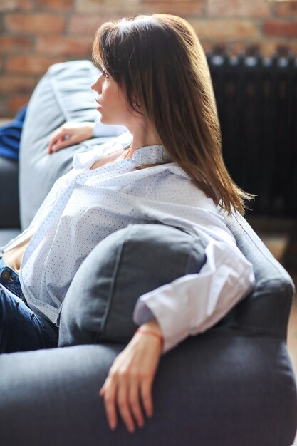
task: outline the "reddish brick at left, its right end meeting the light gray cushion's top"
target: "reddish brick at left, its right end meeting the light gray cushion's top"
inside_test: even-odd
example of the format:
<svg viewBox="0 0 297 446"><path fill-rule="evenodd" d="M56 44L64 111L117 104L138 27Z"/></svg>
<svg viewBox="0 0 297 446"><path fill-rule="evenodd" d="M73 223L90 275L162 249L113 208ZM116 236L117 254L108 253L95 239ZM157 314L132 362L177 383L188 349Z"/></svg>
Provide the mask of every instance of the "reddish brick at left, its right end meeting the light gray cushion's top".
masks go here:
<svg viewBox="0 0 297 446"><path fill-rule="evenodd" d="M62 57L46 57L36 56L11 56L7 59L5 68L9 73L31 73L31 74L43 74L48 67L56 62L62 62Z"/></svg>

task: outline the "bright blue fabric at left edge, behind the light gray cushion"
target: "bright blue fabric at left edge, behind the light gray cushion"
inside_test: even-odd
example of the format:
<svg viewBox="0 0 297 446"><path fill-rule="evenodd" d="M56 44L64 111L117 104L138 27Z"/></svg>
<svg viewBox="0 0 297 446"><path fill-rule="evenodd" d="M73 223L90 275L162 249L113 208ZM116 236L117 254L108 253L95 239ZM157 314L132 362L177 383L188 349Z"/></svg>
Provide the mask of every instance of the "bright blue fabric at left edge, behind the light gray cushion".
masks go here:
<svg viewBox="0 0 297 446"><path fill-rule="evenodd" d="M19 146L21 141L21 130L23 129L27 105L24 105L16 114L16 118L0 128L0 156L19 159Z"/></svg>

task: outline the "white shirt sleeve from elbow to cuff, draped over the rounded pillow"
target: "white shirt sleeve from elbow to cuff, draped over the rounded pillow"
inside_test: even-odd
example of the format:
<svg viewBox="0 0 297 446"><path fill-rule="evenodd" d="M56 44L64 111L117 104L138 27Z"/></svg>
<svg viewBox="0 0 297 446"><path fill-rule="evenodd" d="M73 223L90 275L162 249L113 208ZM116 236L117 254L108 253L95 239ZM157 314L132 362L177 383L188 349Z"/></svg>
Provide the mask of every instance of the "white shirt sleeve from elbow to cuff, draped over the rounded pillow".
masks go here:
<svg viewBox="0 0 297 446"><path fill-rule="evenodd" d="M214 240L205 254L199 273L143 294L137 301L135 323L141 325L150 316L157 319L164 336L163 352L214 326L254 287L251 263L237 247Z"/></svg>

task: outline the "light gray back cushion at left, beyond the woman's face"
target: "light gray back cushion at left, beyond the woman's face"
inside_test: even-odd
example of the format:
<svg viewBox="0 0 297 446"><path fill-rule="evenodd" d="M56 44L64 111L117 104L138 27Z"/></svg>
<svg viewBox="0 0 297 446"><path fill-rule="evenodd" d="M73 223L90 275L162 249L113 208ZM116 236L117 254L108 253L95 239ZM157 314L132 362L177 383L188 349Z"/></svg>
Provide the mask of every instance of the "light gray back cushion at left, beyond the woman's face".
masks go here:
<svg viewBox="0 0 297 446"><path fill-rule="evenodd" d="M21 226L28 227L58 177L72 167L75 151L108 138L93 138L47 155L51 133L66 120L95 120L95 93L90 85L98 69L90 61L57 63L39 81L28 104L20 151Z"/></svg>

